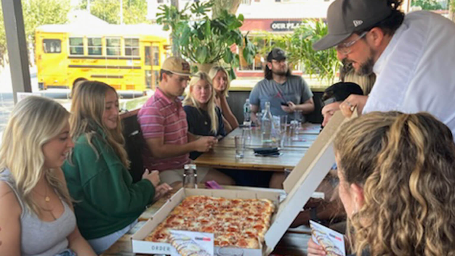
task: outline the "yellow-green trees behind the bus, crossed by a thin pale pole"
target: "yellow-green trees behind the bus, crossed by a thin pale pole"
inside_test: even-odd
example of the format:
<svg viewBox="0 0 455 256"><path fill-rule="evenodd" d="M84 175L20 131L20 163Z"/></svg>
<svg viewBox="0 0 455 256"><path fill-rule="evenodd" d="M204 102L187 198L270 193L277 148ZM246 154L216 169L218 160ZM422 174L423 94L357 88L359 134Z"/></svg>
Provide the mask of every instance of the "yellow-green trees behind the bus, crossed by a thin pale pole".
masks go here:
<svg viewBox="0 0 455 256"><path fill-rule="evenodd" d="M80 9L87 9L87 0ZM90 13L110 24L120 24L120 0L90 0ZM123 0L125 24L147 23L147 0Z"/></svg>

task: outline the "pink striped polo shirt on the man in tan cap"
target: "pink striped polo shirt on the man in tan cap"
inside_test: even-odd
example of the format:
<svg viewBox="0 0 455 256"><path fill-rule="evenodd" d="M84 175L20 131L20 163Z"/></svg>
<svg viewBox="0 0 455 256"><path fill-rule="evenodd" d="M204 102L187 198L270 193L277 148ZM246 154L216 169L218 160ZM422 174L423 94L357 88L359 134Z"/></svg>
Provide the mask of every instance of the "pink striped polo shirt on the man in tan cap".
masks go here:
<svg viewBox="0 0 455 256"><path fill-rule="evenodd" d="M188 143L187 115L182 102L176 98L170 100L160 89L150 97L137 114L144 139L164 138L164 144L183 145ZM152 157L148 146L142 150L144 166L150 171L165 171L183 168L187 164L189 154L169 158Z"/></svg>

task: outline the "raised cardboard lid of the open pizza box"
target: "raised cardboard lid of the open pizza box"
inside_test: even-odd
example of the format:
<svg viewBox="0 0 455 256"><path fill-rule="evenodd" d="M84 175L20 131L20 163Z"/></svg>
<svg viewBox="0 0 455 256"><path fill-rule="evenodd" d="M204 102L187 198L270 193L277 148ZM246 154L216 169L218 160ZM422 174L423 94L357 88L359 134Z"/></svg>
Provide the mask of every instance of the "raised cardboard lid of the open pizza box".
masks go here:
<svg viewBox="0 0 455 256"><path fill-rule="evenodd" d="M302 211L304 204L334 165L333 141L336 132L344 121L345 118L341 111L336 111L329 123L319 133L311 147L283 182L287 196L280 203L274 220L272 220L272 225L265 234L265 243L269 250L267 253L270 253L275 248L295 217Z"/></svg>

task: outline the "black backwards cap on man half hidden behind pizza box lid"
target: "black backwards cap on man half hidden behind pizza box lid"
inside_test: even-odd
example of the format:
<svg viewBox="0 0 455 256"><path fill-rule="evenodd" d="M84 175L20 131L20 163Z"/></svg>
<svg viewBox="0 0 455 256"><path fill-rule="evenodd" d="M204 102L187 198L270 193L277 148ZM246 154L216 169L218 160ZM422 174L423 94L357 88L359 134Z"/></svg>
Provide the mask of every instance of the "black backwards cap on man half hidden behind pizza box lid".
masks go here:
<svg viewBox="0 0 455 256"><path fill-rule="evenodd" d="M346 98L351 94L363 95L364 91L356 83L339 82L330 85L324 90L322 100L324 101L324 105L327 105L337 101L346 100Z"/></svg>

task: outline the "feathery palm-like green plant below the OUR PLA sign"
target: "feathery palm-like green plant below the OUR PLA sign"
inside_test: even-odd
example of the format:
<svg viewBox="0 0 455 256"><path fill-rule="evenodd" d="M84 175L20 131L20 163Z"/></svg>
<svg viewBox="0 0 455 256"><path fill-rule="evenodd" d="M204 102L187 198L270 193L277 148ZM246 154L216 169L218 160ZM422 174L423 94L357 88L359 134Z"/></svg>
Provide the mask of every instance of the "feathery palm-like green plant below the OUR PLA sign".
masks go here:
<svg viewBox="0 0 455 256"><path fill-rule="evenodd" d="M304 72L308 75L318 75L319 80L324 80L327 85L334 83L341 62L337 58L334 48L315 51L313 43L327 35L328 28L323 20L304 20L291 35L266 35L262 40L271 40L273 45L264 47L263 55L273 47L280 47L286 51L288 62L296 65L301 62ZM258 39L261 40L261 39Z"/></svg>

